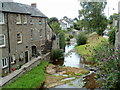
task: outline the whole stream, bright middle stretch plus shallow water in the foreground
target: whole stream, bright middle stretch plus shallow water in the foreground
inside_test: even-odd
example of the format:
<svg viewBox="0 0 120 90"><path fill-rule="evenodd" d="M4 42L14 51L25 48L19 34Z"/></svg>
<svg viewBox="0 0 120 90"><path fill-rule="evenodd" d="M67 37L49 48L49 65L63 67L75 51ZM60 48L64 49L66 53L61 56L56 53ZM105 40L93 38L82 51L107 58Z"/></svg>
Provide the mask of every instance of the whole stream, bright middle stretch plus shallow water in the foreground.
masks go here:
<svg viewBox="0 0 120 90"><path fill-rule="evenodd" d="M63 66L84 68L84 65L80 63L80 56L73 50L75 45L76 45L76 39L71 39L71 44L66 45ZM75 77L66 78L65 80L71 80L74 78ZM63 85L57 86L55 88L83 88L83 86L84 86L83 76L81 76L80 79L75 79L75 80L71 81L70 83L63 84Z"/></svg>

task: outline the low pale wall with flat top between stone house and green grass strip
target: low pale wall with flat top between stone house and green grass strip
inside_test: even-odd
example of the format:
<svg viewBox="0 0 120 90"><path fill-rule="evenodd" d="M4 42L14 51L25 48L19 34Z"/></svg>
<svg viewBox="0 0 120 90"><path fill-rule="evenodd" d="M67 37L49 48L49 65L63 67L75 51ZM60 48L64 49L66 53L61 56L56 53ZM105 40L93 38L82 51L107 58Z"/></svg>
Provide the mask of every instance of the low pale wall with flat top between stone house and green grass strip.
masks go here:
<svg viewBox="0 0 120 90"><path fill-rule="evenodd" d="M18 77L23 75L25 72L31 70L32 68L39 65L41 62L41 57L37 57L29 61L28 63L24 64L19 70L16 70L9 75L0 79L0 86L8 85L9 83L15 81Z"/></svg>

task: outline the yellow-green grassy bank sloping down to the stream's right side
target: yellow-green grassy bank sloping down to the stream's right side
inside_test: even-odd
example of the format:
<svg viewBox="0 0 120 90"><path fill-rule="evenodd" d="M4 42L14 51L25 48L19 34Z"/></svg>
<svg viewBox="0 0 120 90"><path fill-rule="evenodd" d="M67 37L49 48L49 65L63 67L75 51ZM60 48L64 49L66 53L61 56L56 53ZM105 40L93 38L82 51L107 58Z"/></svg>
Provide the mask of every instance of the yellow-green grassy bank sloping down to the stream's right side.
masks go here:
<svg viewBox="0 0 120 90"><path fill-rule="evenodd" d="M88 36L88 42L85 45L75 47L75 51L83 56L86 60L92 61L94 55L94 49L102 42L108 42L108 40L102 36L98 36L97 33L92 33Z"/></svg>

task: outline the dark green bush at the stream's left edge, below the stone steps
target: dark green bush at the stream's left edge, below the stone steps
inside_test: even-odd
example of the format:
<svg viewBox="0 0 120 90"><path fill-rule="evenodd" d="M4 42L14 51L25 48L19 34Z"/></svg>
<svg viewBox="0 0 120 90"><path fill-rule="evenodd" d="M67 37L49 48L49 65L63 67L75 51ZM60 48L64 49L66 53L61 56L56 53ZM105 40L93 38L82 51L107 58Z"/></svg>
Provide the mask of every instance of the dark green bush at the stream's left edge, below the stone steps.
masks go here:
<svg viewBox="0 0 120 90"><path fill-rule="evenodd" d="M63 51L61 49L53 49L51 52L51 60L60 60L64 58Z"/></svg>

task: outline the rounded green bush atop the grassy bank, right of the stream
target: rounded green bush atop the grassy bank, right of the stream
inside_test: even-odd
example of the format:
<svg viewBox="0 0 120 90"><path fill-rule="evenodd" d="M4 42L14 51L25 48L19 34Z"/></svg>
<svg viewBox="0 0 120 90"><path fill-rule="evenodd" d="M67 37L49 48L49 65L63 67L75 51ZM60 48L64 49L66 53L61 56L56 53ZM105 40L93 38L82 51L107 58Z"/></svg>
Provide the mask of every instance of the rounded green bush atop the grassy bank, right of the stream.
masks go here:
<svg viewBox="0 0 120 90"><path fill-rule="evenodd" d="M84 45L87 43L87 36L85 35L84 32L80 32L76 40L78 45Z"/></svg>

